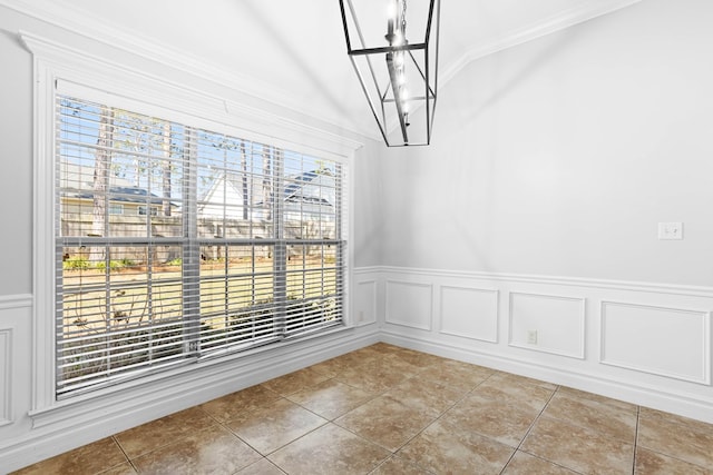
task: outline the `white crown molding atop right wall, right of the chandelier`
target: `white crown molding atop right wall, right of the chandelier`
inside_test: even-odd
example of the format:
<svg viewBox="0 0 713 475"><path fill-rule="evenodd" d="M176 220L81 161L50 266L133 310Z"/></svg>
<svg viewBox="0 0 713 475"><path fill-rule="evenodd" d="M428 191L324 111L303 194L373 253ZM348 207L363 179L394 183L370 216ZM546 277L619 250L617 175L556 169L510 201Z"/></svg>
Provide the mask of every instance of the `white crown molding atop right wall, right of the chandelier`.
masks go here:
<svg viewBox="0 0 713 475"><path fill-rule="evenodd" d="M596 4L579 3L563 10L547 19L536 21L527 27L518 28L468 50L452 65L448 66L440 76L441 86L455 78L469 63L486 56L536 40L556 31L583 23L603 14L633 6L642 0L599 0Z"/></svg>

